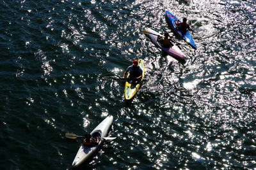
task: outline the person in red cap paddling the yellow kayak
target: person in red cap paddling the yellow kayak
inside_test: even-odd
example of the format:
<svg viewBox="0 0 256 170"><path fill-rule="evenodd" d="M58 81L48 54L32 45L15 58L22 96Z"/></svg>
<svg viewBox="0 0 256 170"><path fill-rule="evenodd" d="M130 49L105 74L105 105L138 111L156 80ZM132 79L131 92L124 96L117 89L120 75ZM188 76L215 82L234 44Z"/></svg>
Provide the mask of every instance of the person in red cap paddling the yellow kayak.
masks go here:
<svg viewBox="0 0 256 170"><path fill-rule="evenodd" d="M130 73L129 80L132 80L132 83L136 84L136 83L140 82L140 80L142 78L143 71L140 68L140 66L138 66L138 60L133 60L132 66L129 66L126 69L126 71L124 72L123 78L125 78L125 75L128 72Z"/></svg>

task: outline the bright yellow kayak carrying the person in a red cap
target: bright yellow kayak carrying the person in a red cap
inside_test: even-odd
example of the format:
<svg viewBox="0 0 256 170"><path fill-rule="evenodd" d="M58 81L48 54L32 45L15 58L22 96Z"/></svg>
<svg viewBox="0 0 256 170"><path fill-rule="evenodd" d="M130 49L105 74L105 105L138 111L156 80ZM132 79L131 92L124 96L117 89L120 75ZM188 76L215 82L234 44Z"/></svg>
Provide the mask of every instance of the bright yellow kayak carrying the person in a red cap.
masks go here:
<svg viewBox="0 0 256 170"><path fill-rule="evenodd" d="M125 89L124 89L124 96L125 96L125 100L129 101L130 99L132 99L132 97L135 96L135 94L138 92L138 90L141 87L143 78L145 77L145 68L144 68L144 64L143 64L143 60L138 60L138 66L140 66L140 68L142 69L142 78L140 83L137 84L133 84L131 83L131 81L125 81ZM127 74L126 78L129 78L130 73Z"/></svg>

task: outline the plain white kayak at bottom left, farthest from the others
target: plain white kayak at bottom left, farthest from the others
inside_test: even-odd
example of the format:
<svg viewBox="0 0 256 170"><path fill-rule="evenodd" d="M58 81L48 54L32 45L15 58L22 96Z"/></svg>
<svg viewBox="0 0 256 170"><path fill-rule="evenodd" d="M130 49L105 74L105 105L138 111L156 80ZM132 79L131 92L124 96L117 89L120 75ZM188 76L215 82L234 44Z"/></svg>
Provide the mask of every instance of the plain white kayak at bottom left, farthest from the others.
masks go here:
<svg viewBox="0 0 256 170"><path fill-rule="evenodd" d="M106 137L108 134L108 129L109 127L111 127L112 122L113 116L109 115L99 125L97 125L95 129L93 129L91 135L93 137ZM72 163L72 166L77 167L81 165L84 162L84 160L88 159L93 153L95 153L97 148L99 148L99 146L102 145L102 142L103 139L99 139L99 143L92 147L84 146L82 143Z"/></svg>

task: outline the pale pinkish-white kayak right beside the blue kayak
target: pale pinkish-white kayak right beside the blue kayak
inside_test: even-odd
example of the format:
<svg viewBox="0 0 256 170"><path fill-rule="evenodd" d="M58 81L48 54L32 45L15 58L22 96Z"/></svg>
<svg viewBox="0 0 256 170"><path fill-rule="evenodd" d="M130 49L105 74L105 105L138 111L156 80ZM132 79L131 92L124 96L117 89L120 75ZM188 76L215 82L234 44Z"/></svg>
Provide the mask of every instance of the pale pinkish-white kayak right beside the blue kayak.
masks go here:
<svg viewBox="0 0 256 170"><path fill-rule="evenodd" d="M161 46L159 44L159 42L157 41L157 36L161 36L161 34L159 34L158 32L154 31L153 29L150 28L146 28L145 30L142 30L142 32L148 36L148 38L150 38L150 40L154 43L154 45L156 45L157 47L159 47L161 50L163 50L164 52L168 53L169 55L171 55L172 57L175 57L177 59L185 59L186 57L184 56L184 53L182 53L182 51L180 50L180 48L173 44L173 46L171 46L170 48L164 48L163 46Z"/></svg>

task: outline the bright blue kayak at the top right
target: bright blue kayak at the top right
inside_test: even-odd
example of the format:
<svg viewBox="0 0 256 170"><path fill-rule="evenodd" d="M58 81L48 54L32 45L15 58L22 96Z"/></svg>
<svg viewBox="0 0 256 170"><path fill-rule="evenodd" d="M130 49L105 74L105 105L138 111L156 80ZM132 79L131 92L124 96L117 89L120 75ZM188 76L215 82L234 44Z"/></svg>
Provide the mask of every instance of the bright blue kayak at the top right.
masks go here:
<svg viewBox="0 0 256 170"><path fill-rule="evenodd" d="M170 27L172 28L172 30L178 34L184 41L186 41L189 45L191 45L193 48L197 48L195 45L195 42L193 41L193 38L191 37L191 34L189 32L189 30L187 29L186 32L184 31L180 31L177 27L175 22L177 20L179 20L178 18L176 18L174 15L172 15L172 13L170 13L169 11L166 11L166 17L168 18L167 22L168 25L170 25Z"/></svg>

